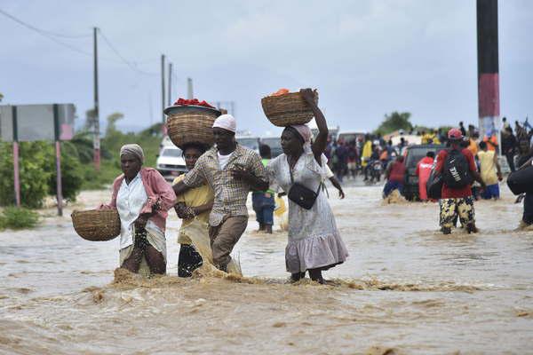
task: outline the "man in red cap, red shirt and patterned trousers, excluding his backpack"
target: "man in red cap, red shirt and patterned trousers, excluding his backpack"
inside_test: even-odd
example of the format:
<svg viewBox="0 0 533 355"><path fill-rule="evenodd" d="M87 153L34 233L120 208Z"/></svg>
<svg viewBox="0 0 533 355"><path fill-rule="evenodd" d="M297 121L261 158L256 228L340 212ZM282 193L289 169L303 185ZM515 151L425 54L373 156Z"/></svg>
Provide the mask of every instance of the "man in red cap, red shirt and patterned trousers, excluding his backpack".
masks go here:
<svg viewBox="0 0 533 355"><path fill-rule="evenodd" d="M461 141L463 140L463 134L460 130L452 128L448 132L448 140L450 147L444 149L437 155L437 165L435 171L442 174L444 166L449 152L452 150L459 151L465 156L468 163L468 169L470 177L481 184L482 188L485 188L485 183L481 179L477 167L473 160L473 154L467 148L461 147ZM451 227L454 226L455 217L458 215L461 220L461 225L466 227L468 233L476 233L475 227L475 213L473 210L473 197L472 197L472 185L467 184L463 187L453 188L446 185L446 182L442 184L442 196L439 201L440 206L440 225L442 233L451 233Z"/></svg>

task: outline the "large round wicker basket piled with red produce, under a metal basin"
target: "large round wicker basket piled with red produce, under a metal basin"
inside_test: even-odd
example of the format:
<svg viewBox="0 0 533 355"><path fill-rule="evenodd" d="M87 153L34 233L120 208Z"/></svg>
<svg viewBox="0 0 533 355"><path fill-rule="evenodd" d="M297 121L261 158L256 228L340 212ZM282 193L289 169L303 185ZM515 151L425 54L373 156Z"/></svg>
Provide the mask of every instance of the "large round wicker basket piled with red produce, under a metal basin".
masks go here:
<svg viewBox="0 0 533 355"><path fill-rule="evenodd" d="M168 114L167 128L174 145L183 147L189 143L212 146L213 122L220 111L205 106L170 106L164 109Z"/></svg>

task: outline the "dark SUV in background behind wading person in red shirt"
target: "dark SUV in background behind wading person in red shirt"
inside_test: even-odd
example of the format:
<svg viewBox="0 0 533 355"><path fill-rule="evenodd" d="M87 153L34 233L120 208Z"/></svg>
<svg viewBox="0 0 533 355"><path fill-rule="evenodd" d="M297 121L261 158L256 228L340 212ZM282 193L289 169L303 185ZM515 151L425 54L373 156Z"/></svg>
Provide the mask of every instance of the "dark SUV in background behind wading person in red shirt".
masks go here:
<svg viewBox="0 0 533 355"><path fill-rule="evenodd" d="M417 176L418 162L426 156L427 152L433 151L436 157L445 148L446 146L444 145L417 145L407 147L407 156L405 157L405 183L403 184L402 193L406 200L420 200Z"/></svg>

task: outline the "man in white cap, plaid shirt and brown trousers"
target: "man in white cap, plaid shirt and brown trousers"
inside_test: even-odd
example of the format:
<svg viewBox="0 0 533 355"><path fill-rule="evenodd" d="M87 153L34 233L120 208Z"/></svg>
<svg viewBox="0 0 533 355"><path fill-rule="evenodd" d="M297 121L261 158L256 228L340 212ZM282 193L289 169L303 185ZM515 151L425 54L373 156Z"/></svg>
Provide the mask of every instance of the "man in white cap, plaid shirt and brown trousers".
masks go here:
<svg viewBox="0 0 533 355"><path fill-rule="evenodd" d="M246 199L251 190L266 191L268 179L259 154L235 141L236 122L222 114L213 123L216 146L205 152L195 169L173 185L179 195L206 181L215 194L209 217L213 262L227 271L230 253L248 225Z"/></svg>

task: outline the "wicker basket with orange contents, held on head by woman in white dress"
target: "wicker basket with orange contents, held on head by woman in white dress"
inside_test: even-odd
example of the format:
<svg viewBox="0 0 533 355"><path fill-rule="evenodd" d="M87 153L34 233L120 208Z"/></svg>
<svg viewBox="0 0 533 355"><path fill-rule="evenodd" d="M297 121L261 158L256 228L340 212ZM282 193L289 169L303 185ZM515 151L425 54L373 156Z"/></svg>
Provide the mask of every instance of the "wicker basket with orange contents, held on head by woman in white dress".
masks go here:
<svg viewBox="0 0 533 355"><path fill-rule="evenodd" d="M318 103L318 92L314 91L314 102ZM261 99L263 111L268 121L274 126L286 127L293 124L305 124L313 119L313 111L299 92L290 92L281 96L267 96Z"/></svg>

